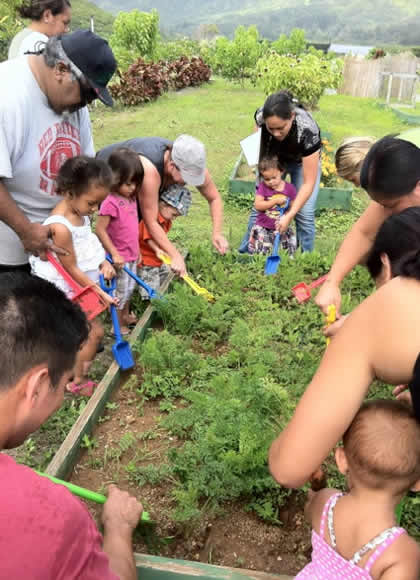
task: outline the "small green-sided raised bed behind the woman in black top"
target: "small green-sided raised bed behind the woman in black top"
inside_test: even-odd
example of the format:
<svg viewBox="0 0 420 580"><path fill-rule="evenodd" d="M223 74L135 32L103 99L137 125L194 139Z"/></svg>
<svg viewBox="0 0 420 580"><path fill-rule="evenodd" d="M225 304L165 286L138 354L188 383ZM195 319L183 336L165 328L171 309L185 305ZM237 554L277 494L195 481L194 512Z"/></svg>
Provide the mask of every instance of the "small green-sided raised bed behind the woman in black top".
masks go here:
<svg viewBox="0 0 420 580"><path fill-rule="evenodd" d="M316 210L341 209L349 211L351 207L351 187L320 187ZM238 157L229 179L229 193L255 194L255 170L246 163L242 153Z"/></svg>

